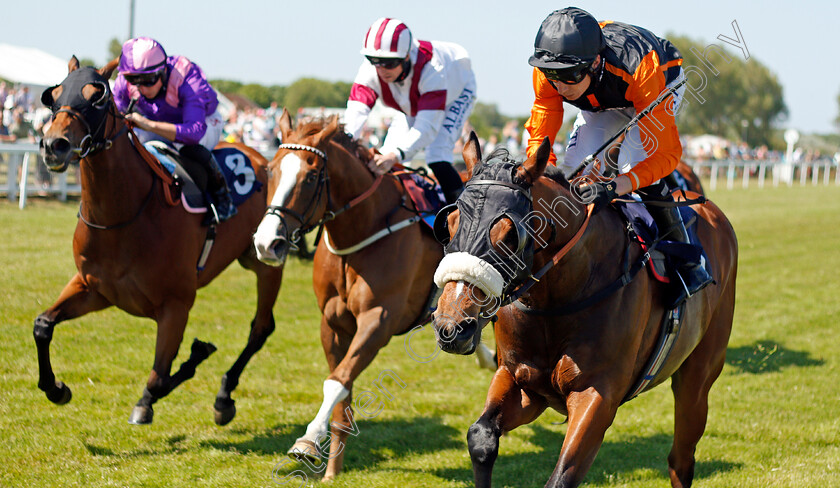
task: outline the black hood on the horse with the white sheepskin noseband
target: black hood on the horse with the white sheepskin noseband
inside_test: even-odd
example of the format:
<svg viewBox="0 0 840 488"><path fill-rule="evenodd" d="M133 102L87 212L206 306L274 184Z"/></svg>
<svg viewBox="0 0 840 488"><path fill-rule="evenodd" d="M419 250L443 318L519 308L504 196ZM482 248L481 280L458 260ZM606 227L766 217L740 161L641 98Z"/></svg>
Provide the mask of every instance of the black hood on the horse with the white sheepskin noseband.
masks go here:
<svg viewBox="0 0 840 488"><path fill-rule="evenodd" d="M516 178L519 166L521 162L511 159L506 152L498 151L491 154L487 161L475 166L472 178L466 183L464 192L456 203L460 211L458 229L448 242L443 239L446 256L435 273L436 282L439 278L444 282L452 281L443 277L449 275L451 278L459 274L448 273L445 269L448 265L452 265L453 269L461 269L460 273L464 273L463 269L468 268L473 270L465 273L470 276L460 279L472 282L488 295L498 296L501 291L518 285L531 273L533 239L528 236L529 229L526 228L525 219L531 213L533 204L530 188ZM441 226L446 225L446 217L453 210L454 206L450 206L438 214L435 227L439 231ZM490 229L504 217L514 224L514 230L511 231L516 232L514 249L509 249L503 242L499 242L501 249L497 249L491 242ZM439 237L441 234L438 232ZM456 253L458 259L466 258L470 264L464 266L464 263L454 263L455 256L452 255ZM474 258L477 258L477 261ZM489 269L475 272L476 268L487 268L487 265L495 272ZM490 277L476 274L489 274ZM499 283L500 279L502 283ZM488 286L487 282L494 284ZM442 283L438 283L438 286L441 285Z"/></svg>

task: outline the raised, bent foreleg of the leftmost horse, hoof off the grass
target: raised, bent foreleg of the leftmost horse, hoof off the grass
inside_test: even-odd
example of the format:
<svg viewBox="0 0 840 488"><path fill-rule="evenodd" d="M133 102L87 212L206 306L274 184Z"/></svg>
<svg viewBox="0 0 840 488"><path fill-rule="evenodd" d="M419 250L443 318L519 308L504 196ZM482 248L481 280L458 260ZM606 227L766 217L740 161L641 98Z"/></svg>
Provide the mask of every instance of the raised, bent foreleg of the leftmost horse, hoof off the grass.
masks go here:
<svg viewBox="0 0 840 488"><path fill-rule="evenodd" d="M35 319L32 335L38 349L38 388L57 404L69 402L73 394L62 381L56 381L50 361L53 329L60 322L102 310L111 304L99 293L88 289L81 276L74 276L61 291L58 300Z"/></svg>

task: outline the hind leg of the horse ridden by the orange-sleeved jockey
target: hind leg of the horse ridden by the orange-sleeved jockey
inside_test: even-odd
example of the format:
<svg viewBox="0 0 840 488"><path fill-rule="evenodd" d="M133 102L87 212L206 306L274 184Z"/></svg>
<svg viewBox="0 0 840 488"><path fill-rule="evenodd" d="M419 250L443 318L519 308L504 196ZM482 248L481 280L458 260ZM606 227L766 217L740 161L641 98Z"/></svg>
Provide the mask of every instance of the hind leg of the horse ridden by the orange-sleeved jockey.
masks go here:
<svg viewBox="0 0 840 488"><path fill-rule="evenodd" d="M674 443L668 454L668 473L674 488L688 488L694 479L694 452L706 430L709 390L723 370L726 358L732 313L717 315L706 336L671 378Z"/></svg>

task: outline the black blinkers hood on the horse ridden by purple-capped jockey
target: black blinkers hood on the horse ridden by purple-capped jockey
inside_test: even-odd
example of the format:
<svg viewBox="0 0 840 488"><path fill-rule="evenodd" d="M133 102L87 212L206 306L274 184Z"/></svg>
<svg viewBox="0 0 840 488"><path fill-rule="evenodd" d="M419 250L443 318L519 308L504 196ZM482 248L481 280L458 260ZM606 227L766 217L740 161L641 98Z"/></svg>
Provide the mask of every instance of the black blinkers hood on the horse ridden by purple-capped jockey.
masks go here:
<svg viewBox="0 0 840 488"><path fill-rule="evenodd" d="M82 90L87 85L98 85L102 87L102 93L98 98L95 100L85 98ZM57 99L53 99L52 92L59 86L62 87L61 95ZM108 80L90 66L70 72L60 85L47 88L41 94L41 103L50 107L53 114L58 113L61 107L70 107L71 111L81 114L82 121L88 125L88 133L92 137L99 135L91 131L92 127L97 128L96 132L102 129L102 122L107 115L108 101L110 99L111 86L108 84Z"/></svg>

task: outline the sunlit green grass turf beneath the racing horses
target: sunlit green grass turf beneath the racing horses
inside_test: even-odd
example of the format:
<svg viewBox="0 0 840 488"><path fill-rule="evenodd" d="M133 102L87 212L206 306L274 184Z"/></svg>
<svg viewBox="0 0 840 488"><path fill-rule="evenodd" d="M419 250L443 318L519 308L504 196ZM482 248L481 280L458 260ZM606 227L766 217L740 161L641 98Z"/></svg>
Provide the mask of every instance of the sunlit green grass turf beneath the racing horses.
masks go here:
<svg viewBox="0 0 840 488"><path fill-rule="evenodd" d="M740 245L735 324L727 364L710 396L695 485L840 486L840 187L735 189L710 197ZM53 366L73 390L64 406L37 389L35 317L73 275L76 205L0 203L0 486L297 486L272 479L321 401L327 366L311 263L292 259L275 307L277 331L234 392L238 415L213 423L221 375L245 344L253 275L232 266L199 292L177 363L193 337L219 350L196 377L155 405L150 426L127 423L154 351L154 324L108 309L60 324ZM485 340L488 340L485 337ZM431 352L424 331L412 345ZM491 373L471 357L421 364L395 338L356 382L391 370L406 383L372 419L357 416L335 487L466 487L466 430L481 412ZM546 412L501 440L494 486L543 486L566 426ZM673 398L663 385L623 406L583 486L667 487ZM276 470L275 470L276 467Z"/></svg>

